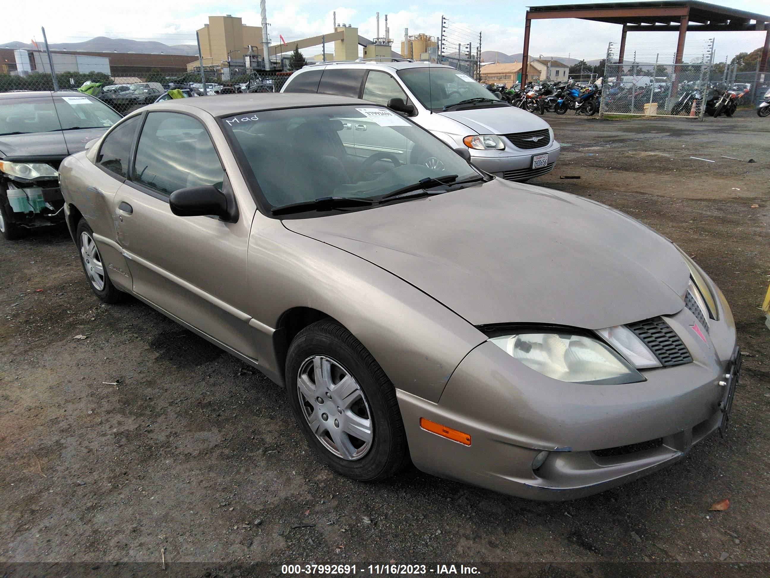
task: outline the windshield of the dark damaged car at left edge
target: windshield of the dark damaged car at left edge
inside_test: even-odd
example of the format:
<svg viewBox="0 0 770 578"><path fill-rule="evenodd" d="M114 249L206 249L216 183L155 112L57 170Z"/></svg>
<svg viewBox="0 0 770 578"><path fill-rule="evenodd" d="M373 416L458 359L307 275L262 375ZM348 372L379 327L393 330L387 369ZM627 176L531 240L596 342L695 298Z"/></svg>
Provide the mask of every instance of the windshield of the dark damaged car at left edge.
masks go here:
<svg viewBox="0 0 770 578"><path fill-rule="evenodd" d="M112 126L120 115L91 96L0 100L0 135Z"/></svg>

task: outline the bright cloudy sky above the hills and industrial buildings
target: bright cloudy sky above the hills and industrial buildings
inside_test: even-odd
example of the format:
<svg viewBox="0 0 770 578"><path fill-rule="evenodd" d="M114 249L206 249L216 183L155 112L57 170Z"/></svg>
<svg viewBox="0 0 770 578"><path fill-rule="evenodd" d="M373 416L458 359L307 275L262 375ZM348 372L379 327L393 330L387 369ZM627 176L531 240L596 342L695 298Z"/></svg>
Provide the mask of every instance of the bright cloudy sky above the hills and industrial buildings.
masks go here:
<svg viewBox="0 0 770 578"><path fill-rule="evenodd" d="M421 0L409 5L404 2L325 2L324 0L268 0L267 18L273 42L283 35L286 42L309 35L331 32L332 12L337 22L352 24L360 35L375 35L375 12L380 12L380 33L384 35L383 17L388 14L390 36L398 42L403 29L410 34L425 32L440 34L441 15L450 18L458 34L482 32L482 48L507 54L521 52L524 37L524 12L527 5L560 4L563 0ZM733 8L770 13L768 0L730 0L724 2ZM243 18L248 25L259 25L258 0L233 2L158 2L158 0L35 0L13 2L3 11L0 19L0 42L18 40L29 42L32 37L42 40L40 27L45 26L49 42L81 42L93 36L105 35L134 39L156 39L167 44L195 42L195 30L207 22L208 15L232 14ZM530 53L544 56L567 56L597 59L607 52L608 42L618 42L619 25L601 24L584 20L534 21ZM688 33L685 54L699 54L707 33ZM732 57L736 52L751 52L762 45L762 32L724 32L716 38L716 60ZM675 49L675 32L629 34L628 50L638 50L639 56L654 59L656 53L671 54ZM332 46L327 46L327 50ZM474 42L475 49L475 42ZM306 51L312 54L313 50ZM318 50L320 52L320 49ZM628 52L627 52L628 55ZM628 57L628 56L627 56ZM662 57L661 57L662 58Z"/></svg>

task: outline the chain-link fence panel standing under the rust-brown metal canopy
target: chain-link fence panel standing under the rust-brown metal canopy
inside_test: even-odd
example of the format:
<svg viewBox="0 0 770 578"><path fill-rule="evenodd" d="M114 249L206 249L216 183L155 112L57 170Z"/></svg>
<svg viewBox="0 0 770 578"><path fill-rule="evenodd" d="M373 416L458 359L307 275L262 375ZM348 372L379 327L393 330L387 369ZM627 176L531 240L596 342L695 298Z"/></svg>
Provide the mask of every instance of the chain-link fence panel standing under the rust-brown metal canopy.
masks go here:
<svg viewBox="0 0 770 578"><path fill-rule="evenodd" d="M601 115L687 116L703 119L705 98L711 92L710 76L713 40L695 54L675 62L671 52L625 51L619 60L619 46L611 43L604 68ZM629 58L630 56L630 58Z"/></svg>

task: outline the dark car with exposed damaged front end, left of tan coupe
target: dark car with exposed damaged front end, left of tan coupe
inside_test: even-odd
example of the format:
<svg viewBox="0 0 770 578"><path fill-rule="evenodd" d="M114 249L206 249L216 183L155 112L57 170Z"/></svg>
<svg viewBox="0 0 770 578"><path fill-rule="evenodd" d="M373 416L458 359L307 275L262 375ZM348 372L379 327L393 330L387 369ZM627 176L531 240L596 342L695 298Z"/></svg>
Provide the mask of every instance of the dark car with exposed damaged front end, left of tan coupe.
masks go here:
<svg viewBox="0 0 770 578"><path fill-rule="evenodd" d="M0 94L0 234L62 222L59 163L119 120L82 92Z"/></svg>

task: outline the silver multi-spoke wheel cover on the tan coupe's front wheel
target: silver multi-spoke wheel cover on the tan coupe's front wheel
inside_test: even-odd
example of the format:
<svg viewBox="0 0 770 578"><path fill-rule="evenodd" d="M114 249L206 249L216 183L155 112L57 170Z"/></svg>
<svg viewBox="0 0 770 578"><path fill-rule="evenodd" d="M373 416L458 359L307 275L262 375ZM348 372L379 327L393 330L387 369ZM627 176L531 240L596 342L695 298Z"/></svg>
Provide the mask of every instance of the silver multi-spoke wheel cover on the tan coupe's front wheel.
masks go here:
<svg viewBox="0 0 770 578"><path fill-rule="evenodd" d="M313 355L296 378L300 408L323 446L339 458L367 455L374 439L372 413L358 381L333 358Z"/></svg>

